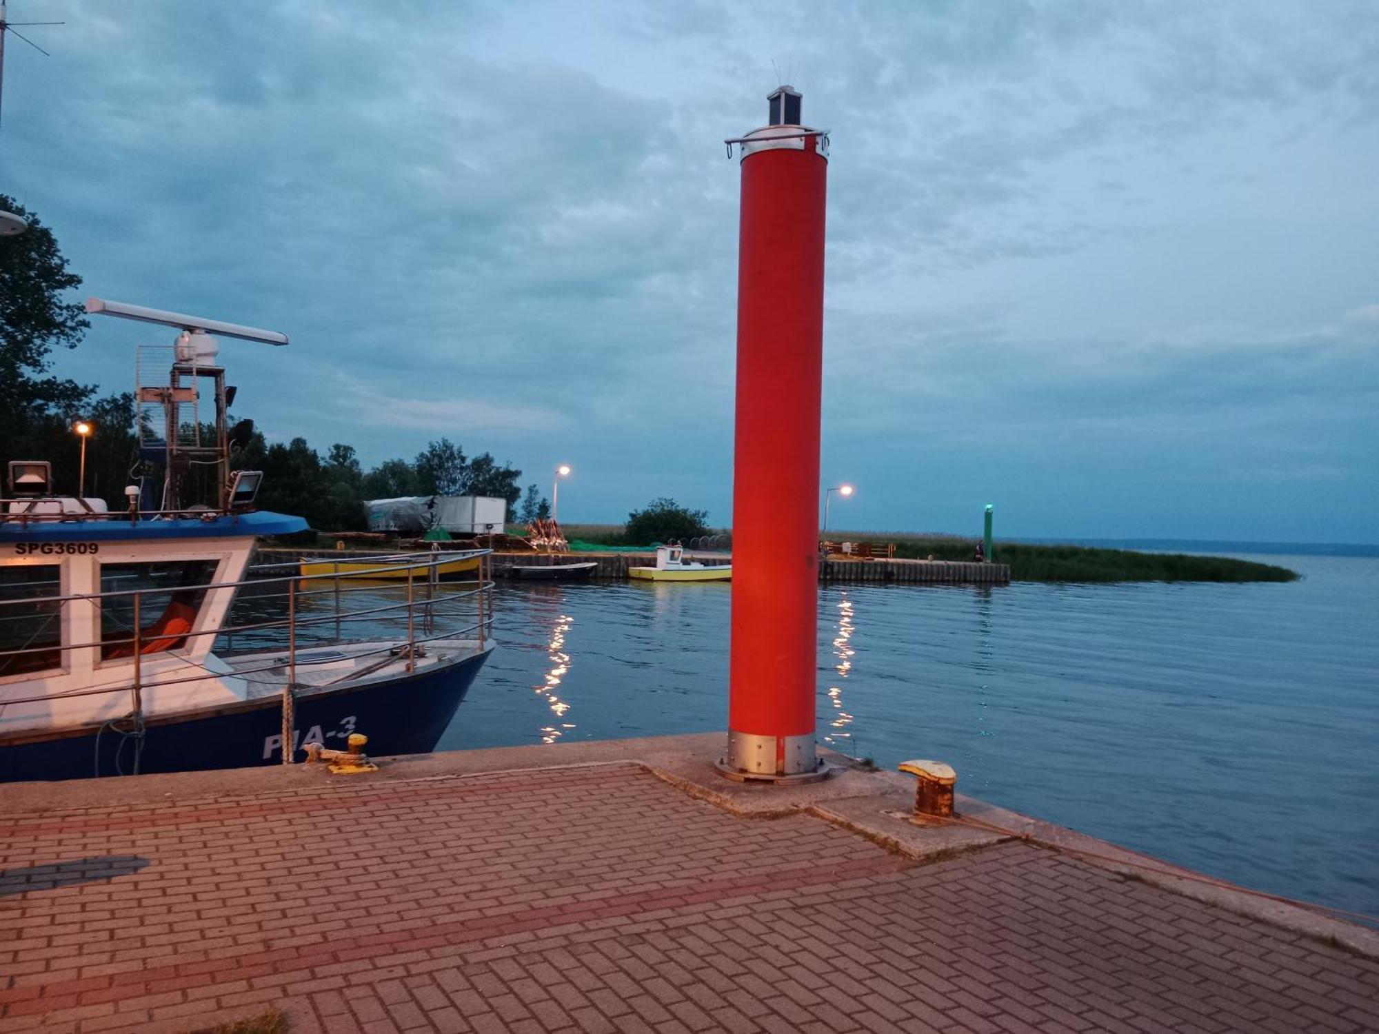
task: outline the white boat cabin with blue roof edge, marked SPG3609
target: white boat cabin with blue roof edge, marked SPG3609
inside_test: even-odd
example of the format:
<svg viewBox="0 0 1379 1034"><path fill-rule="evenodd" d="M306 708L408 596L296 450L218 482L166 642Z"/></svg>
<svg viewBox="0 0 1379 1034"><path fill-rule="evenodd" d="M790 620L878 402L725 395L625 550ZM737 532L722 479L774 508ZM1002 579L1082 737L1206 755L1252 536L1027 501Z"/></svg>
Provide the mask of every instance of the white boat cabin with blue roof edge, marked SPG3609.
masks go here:
<svg viewBox="0 0 1379 1034"><path fill-rule="evenodd" d="M239 699L215 636L255 538L305 527L272 513L131 521L99 502L0 505L0 735L127 714L113 687L138 687L145 714Z"/></svg>

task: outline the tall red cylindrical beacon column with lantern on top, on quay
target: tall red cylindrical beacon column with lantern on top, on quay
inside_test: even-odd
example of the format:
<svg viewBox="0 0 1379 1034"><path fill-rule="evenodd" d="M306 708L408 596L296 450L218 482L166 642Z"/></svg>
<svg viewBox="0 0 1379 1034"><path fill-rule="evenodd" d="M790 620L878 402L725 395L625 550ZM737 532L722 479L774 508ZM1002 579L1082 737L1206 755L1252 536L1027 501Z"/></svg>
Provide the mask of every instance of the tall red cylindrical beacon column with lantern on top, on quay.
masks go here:
<svg viewBox="0 0 1379 1034"><path fill-rule="evenodd" d="M809 778L819 591L819 392L827 142L779 87L742 146L728 758Z"/></svg>

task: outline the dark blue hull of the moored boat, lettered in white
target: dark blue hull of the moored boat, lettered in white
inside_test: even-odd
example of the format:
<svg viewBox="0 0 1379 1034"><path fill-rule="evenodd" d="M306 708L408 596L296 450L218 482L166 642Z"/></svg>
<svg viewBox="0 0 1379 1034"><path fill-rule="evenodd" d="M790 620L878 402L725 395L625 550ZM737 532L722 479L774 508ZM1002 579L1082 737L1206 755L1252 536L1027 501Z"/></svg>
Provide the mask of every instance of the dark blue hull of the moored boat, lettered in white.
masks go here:
<svg viewBox="0 0 1379 1034"><path fill-rule="evenodd" d="M352 732L367 735L365 750L376 757L434 750L487 659L484 651L401 680L299 696L294 758L303 758L308 743L343 750ZM138 750L138 771L280 765L281 733L283 709L277 698L150 721ZM137 746L137 739L119 728L0 743L0 782L131 775Z"/></svg>

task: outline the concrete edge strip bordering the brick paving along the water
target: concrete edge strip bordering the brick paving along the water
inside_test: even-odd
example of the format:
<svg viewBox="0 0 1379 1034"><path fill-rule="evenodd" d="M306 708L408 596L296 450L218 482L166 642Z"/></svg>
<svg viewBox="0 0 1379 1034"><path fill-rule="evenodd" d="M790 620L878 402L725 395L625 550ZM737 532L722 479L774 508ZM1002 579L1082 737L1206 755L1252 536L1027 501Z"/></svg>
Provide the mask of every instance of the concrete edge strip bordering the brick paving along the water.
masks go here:
<svg viewBox="0 0 1379 1034"><path fill-rule="evenodd" d="M379 771L363 776L331 776L324 765L298 764L212 772L84 779L54 783L0 784L0 813L6 824L22 813L48 811L98 812L103 807L139 804L194 804L226 797L281 793L284 786L317 780L349 786L361 780L430 782L465 776L550 772L627 765L644 769L665 783L743 819L771 820L807 813L862 835L885 849L918 863L936 863L980 852L1016 837L987 830L950 826L918 826L909 820L914 783L881 769L867 769L852 758L821 747L838 773L821 783L760 786L724 779L714 769L727 733L691 733L618 740L490 747L375 758ZM961 779L961 772L958 773ZM960 782L961 786L961 782ZM1076 855L1080 860L1138 880L1151 886L1266 922L1354 955L1379 960L1379 931L1346 922L1306 907L1260 898L1247 888L1223 881L1204 882L1190 870L1120 848L1076 830L1007 811L958 794L960 818L980 819L1027 835L1038 847Z"/></svg>

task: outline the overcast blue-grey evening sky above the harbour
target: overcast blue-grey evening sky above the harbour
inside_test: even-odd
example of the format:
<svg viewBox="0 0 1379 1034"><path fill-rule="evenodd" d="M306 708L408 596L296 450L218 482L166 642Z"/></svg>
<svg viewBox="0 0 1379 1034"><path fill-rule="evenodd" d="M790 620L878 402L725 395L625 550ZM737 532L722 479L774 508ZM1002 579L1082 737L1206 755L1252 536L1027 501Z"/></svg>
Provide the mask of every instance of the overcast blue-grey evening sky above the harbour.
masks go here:
<svg viewBox="0 0 1379 1034"><path fill-rule="evenodd" d="M731 520L736 161L832 131L833 524L1379 540L1379 4L11 0L0 190L270 438ZM62 372L132 383L157 328Z"/></svg>

